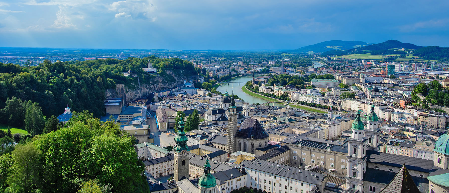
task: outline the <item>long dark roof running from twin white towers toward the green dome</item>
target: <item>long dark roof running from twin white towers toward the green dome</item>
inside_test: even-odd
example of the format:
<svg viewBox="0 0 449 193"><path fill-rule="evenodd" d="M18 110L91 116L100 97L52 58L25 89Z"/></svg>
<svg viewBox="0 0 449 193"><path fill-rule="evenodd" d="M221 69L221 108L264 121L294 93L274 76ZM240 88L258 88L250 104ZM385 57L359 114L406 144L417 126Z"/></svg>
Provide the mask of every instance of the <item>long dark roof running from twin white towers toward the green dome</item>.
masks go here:
<svg viewBox="0 0 449 193"><path fill-rule="evenodd" d="M367 150L366 155L368 157L367 161L369 163L376 163L391 167L401 167L402 164L405 164L405 167L407 167L409 170L426 173L436 170L435 168L433 168L432 160L408 157L404 155L387 154L372 150Z"/></svg>

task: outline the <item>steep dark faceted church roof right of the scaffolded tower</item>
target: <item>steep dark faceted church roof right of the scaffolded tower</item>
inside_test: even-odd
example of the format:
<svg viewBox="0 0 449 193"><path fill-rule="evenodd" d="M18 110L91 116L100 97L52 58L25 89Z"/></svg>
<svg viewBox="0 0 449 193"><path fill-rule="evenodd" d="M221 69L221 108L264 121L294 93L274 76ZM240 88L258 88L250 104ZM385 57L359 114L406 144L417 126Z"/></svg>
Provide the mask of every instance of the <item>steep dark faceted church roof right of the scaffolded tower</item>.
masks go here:
<svg viewBox="0 0 449 193"><path fill-rule="evenodd" d="M259 121L252 118L246 118L242 125L240 125L236 137L251 139L251 136L254 136L254 139L268 138L267 132L262 128Z"/></svg>

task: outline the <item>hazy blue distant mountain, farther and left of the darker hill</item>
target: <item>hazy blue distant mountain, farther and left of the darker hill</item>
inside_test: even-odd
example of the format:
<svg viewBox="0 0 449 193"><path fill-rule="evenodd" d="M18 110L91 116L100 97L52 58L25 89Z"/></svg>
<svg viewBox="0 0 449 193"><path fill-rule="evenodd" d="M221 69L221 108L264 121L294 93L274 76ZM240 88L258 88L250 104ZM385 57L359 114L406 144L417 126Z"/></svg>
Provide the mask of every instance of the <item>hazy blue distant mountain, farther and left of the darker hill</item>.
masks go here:
<svg viewBox="0 0 449 193"><path fill-rule="evenodd" d="M295 52L325 52L330 50L349 50L357 47L364 47L370 45L362 41L343 41L343 40L330 40L326 42L321 42L313 44L310 46L304 46L293 50Z"/></svg>

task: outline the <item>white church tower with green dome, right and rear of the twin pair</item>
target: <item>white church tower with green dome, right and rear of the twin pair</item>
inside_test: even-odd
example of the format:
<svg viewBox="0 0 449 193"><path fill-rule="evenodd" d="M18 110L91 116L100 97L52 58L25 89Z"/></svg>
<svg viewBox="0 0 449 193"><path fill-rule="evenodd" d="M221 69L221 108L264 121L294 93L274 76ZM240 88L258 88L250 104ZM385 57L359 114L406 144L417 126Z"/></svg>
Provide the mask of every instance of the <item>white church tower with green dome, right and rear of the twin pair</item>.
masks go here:
<svg viewBox="0 0 449 193"><path fill-rule="evenodd" d="M368 149L380 151L379 119L374 112L374 104L371 105L371 112L366 120L366 138L368 139Z"/></svg>

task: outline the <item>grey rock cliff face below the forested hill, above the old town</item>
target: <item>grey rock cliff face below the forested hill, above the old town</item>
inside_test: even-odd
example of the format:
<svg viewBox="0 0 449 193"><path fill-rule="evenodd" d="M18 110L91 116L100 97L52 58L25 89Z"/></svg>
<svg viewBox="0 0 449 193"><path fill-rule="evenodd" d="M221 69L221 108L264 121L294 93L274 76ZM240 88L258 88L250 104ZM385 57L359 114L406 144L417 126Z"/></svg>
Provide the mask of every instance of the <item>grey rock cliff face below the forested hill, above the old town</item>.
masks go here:
<svg viewBox="0 0 449 193"><path fill-rule="evenodd" d="M198 80L198 75L186 77L169 70L166 72L167 75L165 76L156 76L151 79L150 84L140 82L140 88L138 85L133 85L130 88L123 84L117 84L115 89L106 90L106 98L125 98L125 101L129 102L140 97L147 97L151 92L173 89L176 86L184 84L184 81Z"/></svg>

